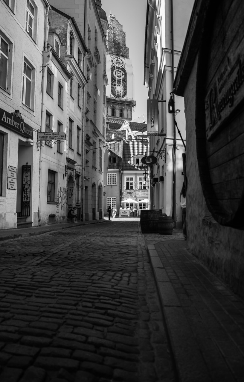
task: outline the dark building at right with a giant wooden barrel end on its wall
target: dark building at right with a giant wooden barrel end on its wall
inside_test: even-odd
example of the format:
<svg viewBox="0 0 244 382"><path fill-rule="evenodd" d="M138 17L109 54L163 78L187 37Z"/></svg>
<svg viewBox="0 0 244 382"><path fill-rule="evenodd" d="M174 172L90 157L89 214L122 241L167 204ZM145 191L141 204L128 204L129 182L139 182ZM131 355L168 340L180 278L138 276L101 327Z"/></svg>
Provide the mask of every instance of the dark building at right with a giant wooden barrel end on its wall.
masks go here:
<svg viewBox="0 0 244 382"><path fill-rule="evenodd" d="M196 0L174 82L185 102L187 247L242 297L243 13L236 0Z"/></svg>

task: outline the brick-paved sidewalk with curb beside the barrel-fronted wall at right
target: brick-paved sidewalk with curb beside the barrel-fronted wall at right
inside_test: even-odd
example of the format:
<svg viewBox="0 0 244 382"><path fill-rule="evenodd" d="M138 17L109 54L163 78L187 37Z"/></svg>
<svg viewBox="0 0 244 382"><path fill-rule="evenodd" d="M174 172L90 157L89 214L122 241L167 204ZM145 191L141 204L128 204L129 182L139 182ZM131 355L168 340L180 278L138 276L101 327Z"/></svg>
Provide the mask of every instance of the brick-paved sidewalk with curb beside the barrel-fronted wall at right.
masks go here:
<svg viewBox="0 0 244 382"><path fill-rule="evenodd" d="M147 245L180 382L244 381L244 301L186 249Z"/></svg>

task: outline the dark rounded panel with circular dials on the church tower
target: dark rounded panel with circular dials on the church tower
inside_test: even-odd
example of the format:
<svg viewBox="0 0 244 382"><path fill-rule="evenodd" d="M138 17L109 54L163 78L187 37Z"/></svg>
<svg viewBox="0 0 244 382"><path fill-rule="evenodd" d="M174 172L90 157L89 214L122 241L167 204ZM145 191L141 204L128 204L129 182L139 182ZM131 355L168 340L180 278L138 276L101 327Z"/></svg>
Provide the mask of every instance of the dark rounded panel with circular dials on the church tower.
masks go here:
<svg viewBox="0 0 244 382"><path fill-rule="evenodd" d="M111 93L116 98L124 98L127 95L125 62L119 57L112 59Z"/></svg>

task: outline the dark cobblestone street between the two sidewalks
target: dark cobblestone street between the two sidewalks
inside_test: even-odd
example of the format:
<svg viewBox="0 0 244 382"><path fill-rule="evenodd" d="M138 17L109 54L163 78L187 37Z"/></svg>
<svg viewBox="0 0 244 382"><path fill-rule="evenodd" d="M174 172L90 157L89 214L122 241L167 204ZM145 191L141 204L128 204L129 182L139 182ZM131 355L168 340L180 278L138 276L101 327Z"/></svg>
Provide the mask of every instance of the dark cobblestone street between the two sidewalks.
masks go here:
<svg viewBox="0 0 244 382"><path fill-rule="evenodd" d="M139 224L1 242L1 382L176 380Z"/></svg>

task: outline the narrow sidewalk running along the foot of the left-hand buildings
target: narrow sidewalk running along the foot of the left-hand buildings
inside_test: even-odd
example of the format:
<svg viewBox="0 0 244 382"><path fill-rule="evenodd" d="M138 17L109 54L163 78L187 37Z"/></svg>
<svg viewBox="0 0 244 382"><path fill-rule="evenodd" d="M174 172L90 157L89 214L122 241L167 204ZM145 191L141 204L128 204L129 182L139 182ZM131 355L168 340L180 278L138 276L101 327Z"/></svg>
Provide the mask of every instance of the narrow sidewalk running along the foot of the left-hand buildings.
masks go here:
<svg viewBox="0 0 244 382"><path fill-rule="evenodd" d="M103 223L105 219L100 220L89 220L85 222L77 222L77 223L60 223L60 224L48 224L37 227L29 227L29 228L13 228L10 230L0 230L0 241L16 239L20 237L34 236L34 235L42 235L43 233L64 230L65 228L70 227L78 227L79 225L86 224L96 224Z"/></svg>

